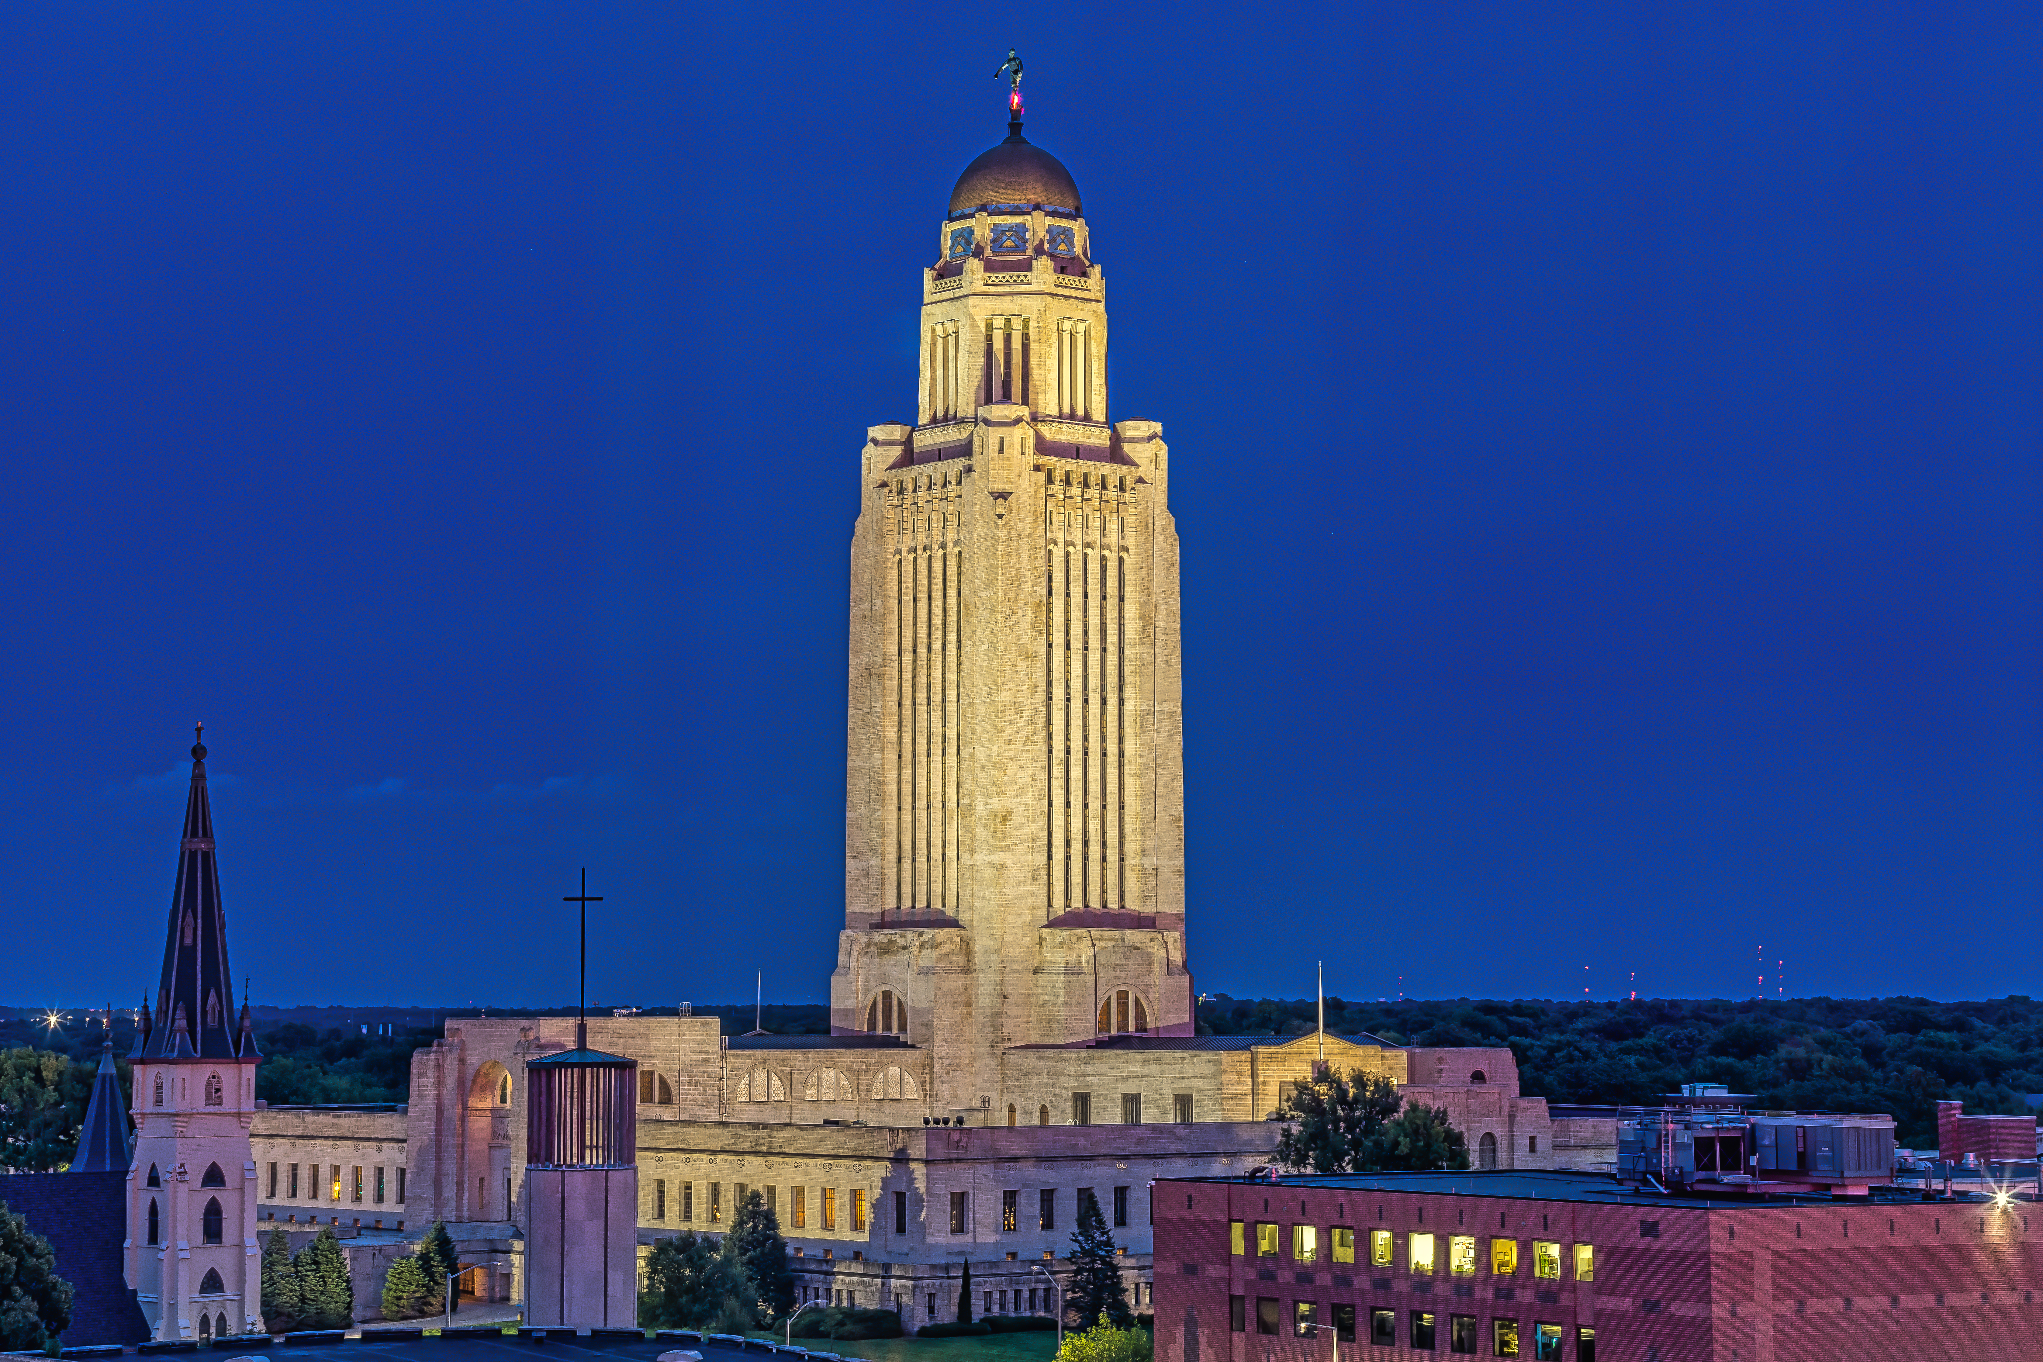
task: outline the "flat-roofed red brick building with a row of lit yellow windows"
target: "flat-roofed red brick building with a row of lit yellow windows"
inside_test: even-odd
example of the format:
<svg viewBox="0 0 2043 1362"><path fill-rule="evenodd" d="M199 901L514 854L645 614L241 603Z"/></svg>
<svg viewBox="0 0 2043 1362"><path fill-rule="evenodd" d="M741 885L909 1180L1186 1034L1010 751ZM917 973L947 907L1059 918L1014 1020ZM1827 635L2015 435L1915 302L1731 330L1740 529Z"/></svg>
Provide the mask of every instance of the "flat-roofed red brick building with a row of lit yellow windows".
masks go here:
<svg viewBox="0 0 2043 1362"><path fill-rule="evenodd" d="M1565 1172L1156 1182L1158 1362L2043 1358L2043 1207Z"/></svg>

